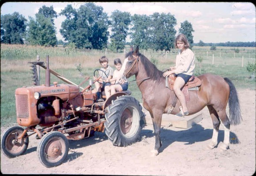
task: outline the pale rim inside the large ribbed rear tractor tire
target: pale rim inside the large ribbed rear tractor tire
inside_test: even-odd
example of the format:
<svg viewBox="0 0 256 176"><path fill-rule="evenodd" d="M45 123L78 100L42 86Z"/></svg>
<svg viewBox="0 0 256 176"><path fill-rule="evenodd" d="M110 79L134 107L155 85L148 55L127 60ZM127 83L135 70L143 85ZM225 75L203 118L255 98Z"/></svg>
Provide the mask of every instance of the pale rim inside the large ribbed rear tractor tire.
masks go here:
<svg viewBox="0 0 256 176"><path fill-rule="evenodd" d="M132 137L139 128L139 112L133 106L126 107L120 117L120 129L126 137Z"/></svg>

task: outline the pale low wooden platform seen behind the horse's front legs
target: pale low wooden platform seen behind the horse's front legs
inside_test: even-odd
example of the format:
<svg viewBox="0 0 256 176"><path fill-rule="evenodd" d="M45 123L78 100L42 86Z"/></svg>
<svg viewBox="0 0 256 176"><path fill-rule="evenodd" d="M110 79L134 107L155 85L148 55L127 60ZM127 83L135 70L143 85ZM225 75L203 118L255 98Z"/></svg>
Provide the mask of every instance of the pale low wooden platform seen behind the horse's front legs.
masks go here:
<svg viewBox="0 0 256 176"><path fill-rule="evenodd" d="M146 109L142 109L145 113L146 124L152 124L152 119L149 112ZM161 126L173 126L176 128L191 128L193 125L202 121L203 116L201 112L193 115L188 115L184 117L177 117L173 114L163 114Z"/></svg>

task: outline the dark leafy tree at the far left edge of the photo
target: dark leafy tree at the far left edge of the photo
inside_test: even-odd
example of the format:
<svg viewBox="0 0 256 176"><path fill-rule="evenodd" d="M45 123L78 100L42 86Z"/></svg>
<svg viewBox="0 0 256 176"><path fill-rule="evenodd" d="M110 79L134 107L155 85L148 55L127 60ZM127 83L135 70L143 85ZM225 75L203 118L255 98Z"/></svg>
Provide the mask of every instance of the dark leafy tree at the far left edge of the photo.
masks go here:
<svg viewBox="0 0 256 176"><path fill-rule="evenodd" d="M1 43L23 44L23 38L26 35L26 22L26 18L19 15L18 12L1 15Z"/></svg>

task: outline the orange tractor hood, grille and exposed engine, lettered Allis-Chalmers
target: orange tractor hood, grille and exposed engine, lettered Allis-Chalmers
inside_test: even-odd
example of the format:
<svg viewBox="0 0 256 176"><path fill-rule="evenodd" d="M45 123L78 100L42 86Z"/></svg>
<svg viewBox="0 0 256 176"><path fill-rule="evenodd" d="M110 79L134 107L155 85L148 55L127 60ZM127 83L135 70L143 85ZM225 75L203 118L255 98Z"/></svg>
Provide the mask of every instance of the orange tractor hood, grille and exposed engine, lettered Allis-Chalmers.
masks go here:
<svg viewBox="0 0 256 176"><path fill-rule="evenodd" d="M17 123L21 126L53 125L61 120L63 110L72 112L72 108L83 107L83 97L77 86L57 85L56 82L49 87L17 88L15 99Z"/></svg>

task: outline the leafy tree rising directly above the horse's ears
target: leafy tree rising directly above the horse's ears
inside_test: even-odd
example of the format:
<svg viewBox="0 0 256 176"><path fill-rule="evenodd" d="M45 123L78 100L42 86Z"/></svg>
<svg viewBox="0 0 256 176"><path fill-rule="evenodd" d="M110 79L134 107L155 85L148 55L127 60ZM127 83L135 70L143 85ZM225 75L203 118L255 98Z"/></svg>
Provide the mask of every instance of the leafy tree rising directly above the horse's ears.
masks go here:
<svg viewBox="0 0 256 176"><path fill-rule="evenodd" d="M139 46L141 49L150 48L149 42L149 29L151 19L147 15L133 15L131 17L132 28L131 28L131 39L132 45Z"/></svg>

